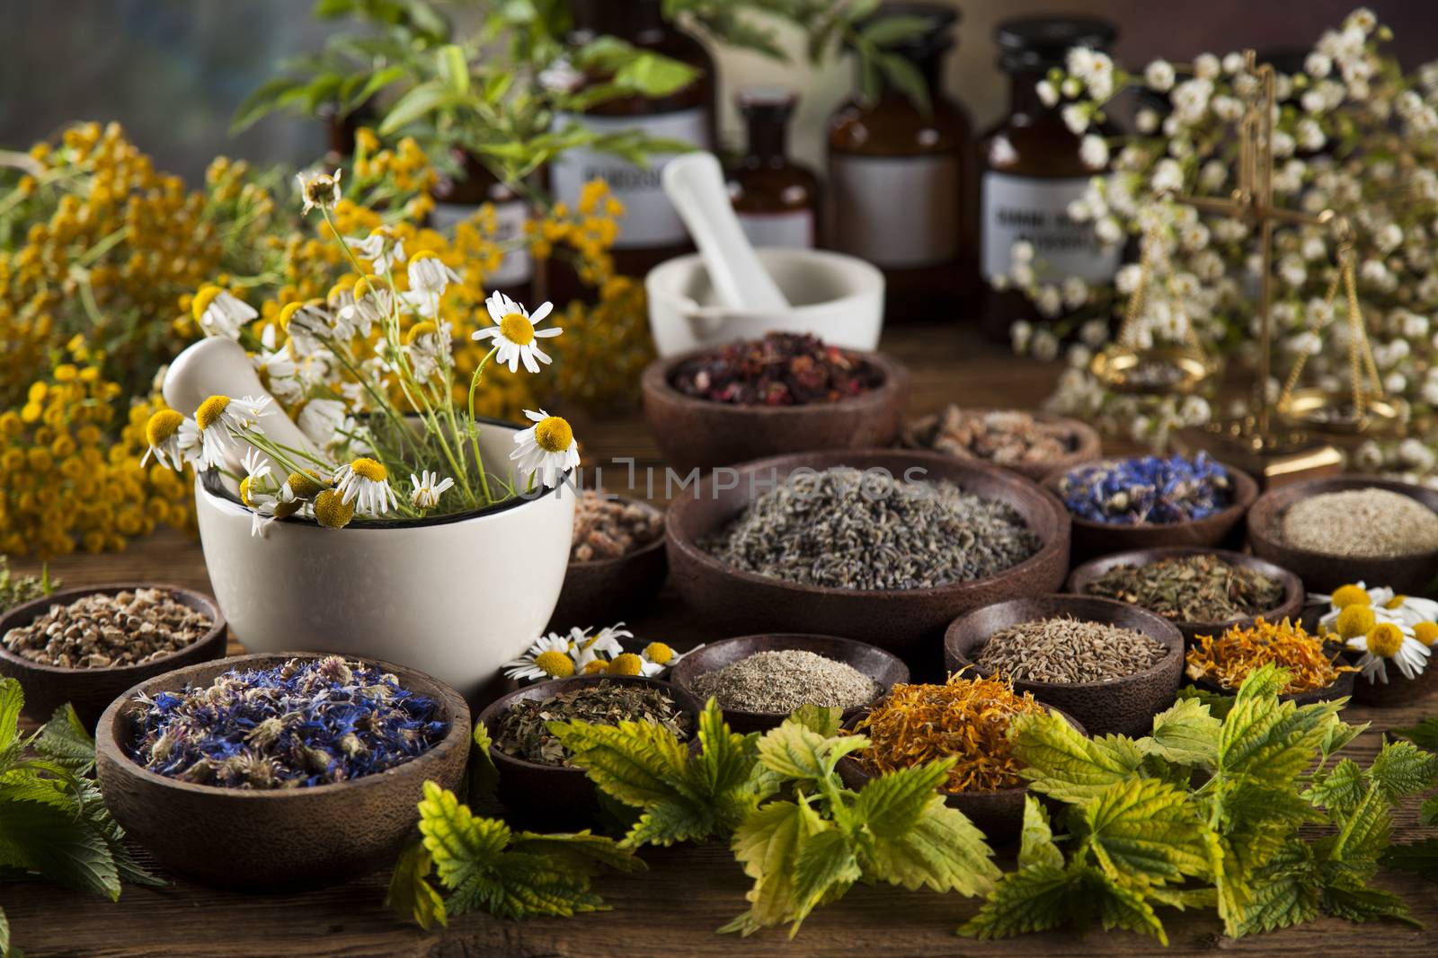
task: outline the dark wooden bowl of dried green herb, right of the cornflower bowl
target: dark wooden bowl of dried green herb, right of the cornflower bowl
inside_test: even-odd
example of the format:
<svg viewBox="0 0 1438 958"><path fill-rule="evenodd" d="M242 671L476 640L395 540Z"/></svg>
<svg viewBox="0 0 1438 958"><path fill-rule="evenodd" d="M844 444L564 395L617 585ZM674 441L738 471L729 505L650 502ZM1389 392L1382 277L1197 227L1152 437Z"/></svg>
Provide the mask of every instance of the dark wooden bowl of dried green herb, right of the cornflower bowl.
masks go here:
<svg viewBox="0 0 1438 958"><path fill-rule="evenodd" d="M699 730L699 712L703 711L703 705L687 689L641 675L581 675L535 682L496 698L479 714L479 721L489 731L490 738L498 738L499 720L516 702L545 699L555 692L581 685L598 685L600 682L649 685L663 689L689 715L690 738ZM493 760L495 768L499 770L499 800L505 803L515 822L532 826L545 823L546 832L554 832L558 827L585 829L594 824L594 816L600 810L598 791L582 768L529 761L510 755L498 745L489 747L489 757Z"/></svg>

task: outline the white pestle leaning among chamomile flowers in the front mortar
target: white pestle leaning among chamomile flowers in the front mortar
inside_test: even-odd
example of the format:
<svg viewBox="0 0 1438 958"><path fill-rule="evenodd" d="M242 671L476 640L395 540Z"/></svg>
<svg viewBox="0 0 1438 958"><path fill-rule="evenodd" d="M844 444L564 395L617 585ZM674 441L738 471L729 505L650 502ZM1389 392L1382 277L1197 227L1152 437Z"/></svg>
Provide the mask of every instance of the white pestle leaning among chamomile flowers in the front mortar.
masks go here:
<svg viewBox="0 0 1438 958"><path fill-rule="evenodd" d="M201 402L216 395L236 399L240 396L269 399L266 406L269 415L260 419L260 429L265 435L280 445L321 455L315 444L299 431L293 419L285 415L285 409L260 385L260 378L255 372L250 358L244 353L244 348L233 339L217 336L201 339L175 356L165 372L164 395L165 404L171 409L191 418ZM240 458L249 448L246 442L236 442L234 451L226 457L226 467L236 475L243 473ZM289 470L267 455L263 460L270 464L270 470L278 478L289 474Z"/></svg>

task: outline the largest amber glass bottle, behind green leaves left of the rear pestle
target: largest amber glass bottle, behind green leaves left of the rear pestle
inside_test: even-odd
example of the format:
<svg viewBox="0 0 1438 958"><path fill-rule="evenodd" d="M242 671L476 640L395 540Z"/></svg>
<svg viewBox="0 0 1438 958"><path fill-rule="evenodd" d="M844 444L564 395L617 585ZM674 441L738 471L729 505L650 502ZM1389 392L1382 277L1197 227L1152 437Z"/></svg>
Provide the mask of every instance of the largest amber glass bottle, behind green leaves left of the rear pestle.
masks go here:
<svg viewBox="0 0 1438 958"><path fill-rule="evenodd" d="M584 45L597 36L615 36L637 49L661 53L700 72L696 82L659 99L628 96L601 103L582 119L559 115L558 126L580 119L590 129L611 132L643 129L651 136L679 139L712 149L715 144L715 65L707 50L692 36L664 22L661 0L569 0L569 43ZM588 76L582 83L603 83ZM659 174L669 155L651 155L647 167L594 149L569 149L549 167L554 198L571 205L581 187L595 178L624 204L620 234L614 243L614 266L627 276L643 277L659 263L692 250L689 233L664 197ZM551 264L551 296L567 300L578 294L572 270Z"/></svg>

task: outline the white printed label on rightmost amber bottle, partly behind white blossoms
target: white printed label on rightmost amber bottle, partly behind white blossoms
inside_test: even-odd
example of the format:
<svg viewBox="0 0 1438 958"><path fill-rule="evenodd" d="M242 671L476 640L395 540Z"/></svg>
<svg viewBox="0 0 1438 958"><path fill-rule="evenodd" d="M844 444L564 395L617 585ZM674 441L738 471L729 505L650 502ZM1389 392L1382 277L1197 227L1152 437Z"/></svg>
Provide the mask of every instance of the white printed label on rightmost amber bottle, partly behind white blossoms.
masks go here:
<svg viewBox="0 0 1438 958"><path fill-rule="evenodd" d="M1034 271L1040 282L1077 276L1086 283L1106 283L1119 269L1122 248L1106 247L1091 223L1068 218L1068 204L1089 190L1089 177L1061 180L984 174L984 234L979 269L985 280L1007 276L1011 251L1020 240L1034 244Z"/></svg>

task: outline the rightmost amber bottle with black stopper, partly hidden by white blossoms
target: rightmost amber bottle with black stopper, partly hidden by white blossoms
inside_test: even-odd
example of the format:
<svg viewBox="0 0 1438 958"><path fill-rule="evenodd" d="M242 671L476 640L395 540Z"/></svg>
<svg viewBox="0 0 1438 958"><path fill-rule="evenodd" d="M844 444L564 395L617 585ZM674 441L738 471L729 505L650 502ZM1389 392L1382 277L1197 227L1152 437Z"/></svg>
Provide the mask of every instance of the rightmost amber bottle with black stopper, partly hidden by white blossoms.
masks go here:
<svg viewBox="0 0 1438 958"><path fill-rule="evenodd" d="M998 65L1009 75L1008 115L979 139L979 273L985 282L984 329L1008 339L1015 319L1035 315L1017 290L995 292L992 277L1009 273L1014 243L1034 246L1040 280L1077 276L1089 283L1113 279L1122 248L1102 246L1091 223L1068 218L1068 204L1103 172L1080 155L1080 138L1058 106L1045 106L1038 82L1063 66L1071 47L1106 50L1117 29L1093 17L1018 17L998 24ZM1100 131L1103 132L1103 131Z"/></svg>

